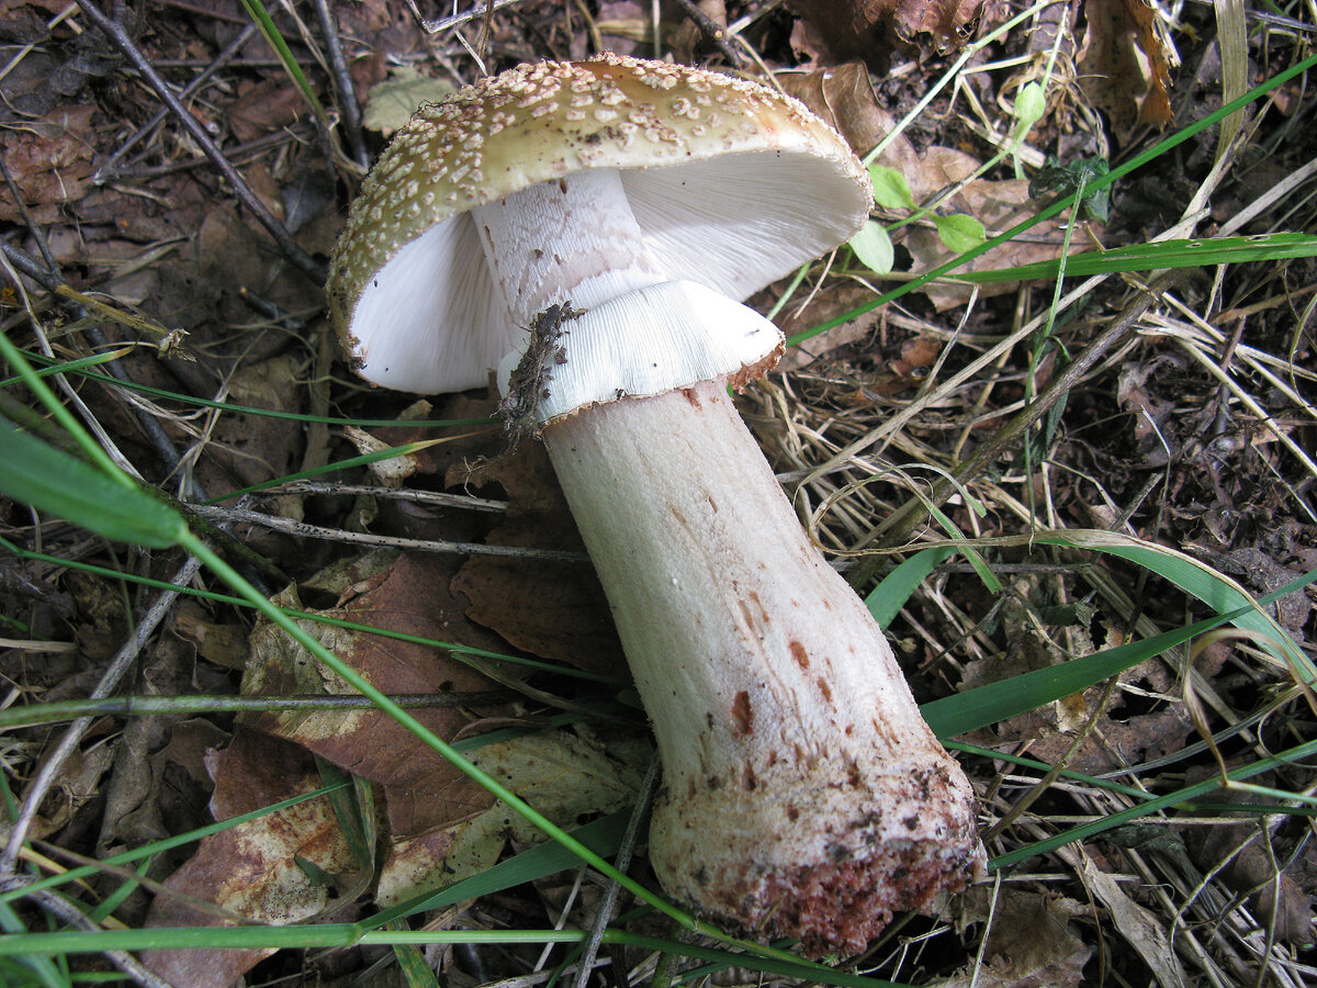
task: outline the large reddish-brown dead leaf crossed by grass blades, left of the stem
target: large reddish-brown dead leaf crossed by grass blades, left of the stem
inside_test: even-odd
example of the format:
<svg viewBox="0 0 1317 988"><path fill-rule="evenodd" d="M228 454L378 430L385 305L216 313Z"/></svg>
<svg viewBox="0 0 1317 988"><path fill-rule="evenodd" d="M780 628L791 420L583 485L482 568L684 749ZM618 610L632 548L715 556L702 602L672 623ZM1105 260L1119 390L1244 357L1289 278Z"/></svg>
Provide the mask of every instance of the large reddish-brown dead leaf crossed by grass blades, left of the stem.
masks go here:
<svg viewBox="0 0 1317 988"><path fill-rule="evenodd" d="M449 577L446 564L428 556L370 553L345 568L317 576L319 588L340 594L340 601L316 613L407 635L503 651L503 642L462 618L461 605L446 590ZM275 602L302 609L295 589L284 590ZM479 693L494 686L444 649L328 624L306 622L303 626L385 693ZM282 631L262 623L252 632L252 656L242 677L242 692L352 693L352 689ZM481 709L500 710L487 701ZM452 740L471 722L471 715L457 706L417 710L415 715L445 740ZM255 714L242 719L383 785L390 827L398 837L452 823L490 804L483 789L382 711Z"/></svg>

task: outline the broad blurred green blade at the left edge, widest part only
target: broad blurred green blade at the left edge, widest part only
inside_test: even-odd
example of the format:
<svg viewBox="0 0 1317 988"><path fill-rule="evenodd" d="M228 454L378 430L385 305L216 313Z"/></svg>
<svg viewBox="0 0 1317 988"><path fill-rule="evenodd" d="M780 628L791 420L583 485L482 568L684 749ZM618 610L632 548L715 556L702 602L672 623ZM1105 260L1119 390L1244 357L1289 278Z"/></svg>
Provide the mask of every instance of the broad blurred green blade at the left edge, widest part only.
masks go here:
<svg viewBox="0 0 1317 988"><path fill-rule="evenodd" d="M107 477L0 419L0 493L112 541L162 549L187 534L173 507L136 485Z"/></svg>

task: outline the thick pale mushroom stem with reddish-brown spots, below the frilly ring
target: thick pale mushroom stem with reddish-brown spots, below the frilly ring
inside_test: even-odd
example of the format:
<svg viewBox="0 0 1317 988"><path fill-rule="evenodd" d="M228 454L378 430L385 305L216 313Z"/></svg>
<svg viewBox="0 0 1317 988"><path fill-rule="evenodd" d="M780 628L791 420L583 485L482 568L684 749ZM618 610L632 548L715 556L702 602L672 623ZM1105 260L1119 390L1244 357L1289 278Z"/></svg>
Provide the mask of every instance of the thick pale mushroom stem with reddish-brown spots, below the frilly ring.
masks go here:
<svg viewBox="0 0 1317 988"><path fill-rule="evenodd" d="M672 894L859 951L982 872L969 782L724 382L582 408L544 440L658 739Z"/></svg>

